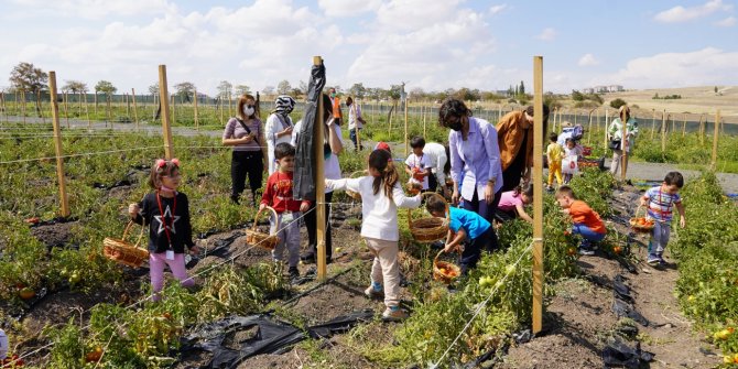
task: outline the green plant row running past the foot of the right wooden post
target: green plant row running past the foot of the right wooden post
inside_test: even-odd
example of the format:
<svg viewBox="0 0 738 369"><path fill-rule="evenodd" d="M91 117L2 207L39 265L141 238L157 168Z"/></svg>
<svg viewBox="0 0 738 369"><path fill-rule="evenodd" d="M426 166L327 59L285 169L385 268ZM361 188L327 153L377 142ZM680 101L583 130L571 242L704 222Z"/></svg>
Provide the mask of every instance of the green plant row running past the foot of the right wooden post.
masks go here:
<svg viewBox="0 0 738 369"><path fill-rule="evenodd" d="M592 186L596 183L598 186ZM590 202L611 195L612 177L609 173L588 170L572 185L577 196ZM601 187L600 187L601 185ZM607 203L597 203L598 211L609 214ZM409 231L400 219L401 231ZM577 273L575 240L564 232L567 217L561 211L552 195L544 197L544 273L546 296L554 291L552 283ZM431 275L431 250L414 245L422 260L416 279L411 283L414 296L410 318L394 330L393 344L378 345L370 337L355 335L352 345L368 360L382 367L402 367L409 363L436 362L451 347L439 368L452 368L489 350L499 349L510 340L510 334L531 323L532 306L532 227L522 220L506 223L498 236L503 249L485 253L477 268L455 285L455 292L438 282L427 284ZM604 249L612 250L617 242L605 242ZM574 250L574 251L573 251ZM491 294L491 297L490 297ZM478 316L471 316L484 304ZM456 336L467 322L470 326L453 346ZM359 330L361 332L361 330Z"/></svg>

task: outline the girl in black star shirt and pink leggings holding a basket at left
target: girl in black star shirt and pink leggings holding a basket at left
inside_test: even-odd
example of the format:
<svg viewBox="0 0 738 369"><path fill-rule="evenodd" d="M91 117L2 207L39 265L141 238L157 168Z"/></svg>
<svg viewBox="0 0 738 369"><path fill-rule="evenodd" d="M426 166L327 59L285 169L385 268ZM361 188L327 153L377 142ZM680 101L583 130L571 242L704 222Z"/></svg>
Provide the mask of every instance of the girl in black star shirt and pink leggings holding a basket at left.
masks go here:
<svg viewBox="0 0 738 369"><path fill-rule="evenodd" d="M192 253L197 253L198 249L192 240L189 202L185 194L176 191L181 178L178 160L158 160L149 176L149 185L154 192L143 196L141 203L128 206L133 221L149 226L149 267L154 290L152 301L160 300L165 264L183 286L195 285L195 281L187 278L184 252L185 247Z"/></svg>

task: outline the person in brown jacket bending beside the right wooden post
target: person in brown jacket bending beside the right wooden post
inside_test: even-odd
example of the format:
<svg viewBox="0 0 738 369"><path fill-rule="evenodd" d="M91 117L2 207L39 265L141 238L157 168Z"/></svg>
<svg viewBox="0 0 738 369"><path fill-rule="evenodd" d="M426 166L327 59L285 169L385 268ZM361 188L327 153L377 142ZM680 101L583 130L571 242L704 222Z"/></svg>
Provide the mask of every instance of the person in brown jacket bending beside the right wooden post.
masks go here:
<svg viewBox="0 0 738 369"><path fill-rule="evenodd" d="M549 107L543 106L543 132L546 132ZM528 182L533 166L533 106L524 111L510 111L497 123L500 144L500 160L504 185L502 191L511 191ZM545 141L544 141L545 142Z"/></svg>

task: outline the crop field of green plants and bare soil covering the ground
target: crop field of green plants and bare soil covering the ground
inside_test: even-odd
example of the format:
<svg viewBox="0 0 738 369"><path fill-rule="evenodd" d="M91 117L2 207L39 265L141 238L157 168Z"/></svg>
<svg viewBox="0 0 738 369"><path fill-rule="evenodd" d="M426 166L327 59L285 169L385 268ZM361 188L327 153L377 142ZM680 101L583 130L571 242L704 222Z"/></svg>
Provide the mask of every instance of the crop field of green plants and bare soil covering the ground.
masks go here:
<svg viewBox="0 0 738 369"><path fill-rule="evenodd" d="M719 135L715 171L708 171L712 121L705 134L669 124L665 150L659 127L642 124L631 156L631 165L669 163L703 171L682 189L687 226L679 228L675 220L665 270L645 264L648 238L628 224L643 186L597 169L572 181L577 196L607 224L608 236L593 257L577 254L576 239L565 231L568 220L553 195L544 194L547 329L531 340L525 329L532 319L533 237L532 227L519 219L497 230L500 250L485 253L468 276L448 286L432 278L437 250L415 242L409 214L399 211L402 305L410 317L384 323L378 316L383 304L363 295L373 257L359 237L361 204L337 192L330 204L334 262L327 280L314 278L314 265L301 264L304 278L290 283L269 251L246 240L256 208L229 199L230 150L220 143L217 109L203 109L196 127L192 107L174 108L181 113L174 113L173 142L182 163L180 191L189 198L202 251L187 263L196 286L184 289L169 279L163 301L152 302L145 264L121 267L102 254L102 240L123 234L128 204L150 192L150 165L164 155L159 126L151 123L152 106L140 106L139 119L141 128L154 130L138 131L124 104L110 112L100 105L97 115L91 112L90 121L112 117L115 126L107 128L96 122L87 129L86 109L74 104L70 109L74 124L62 133L72 213L66 218L58 216L51 124L31 117L23 123L12 110L0 117L0 319L11 354L25 368L515 368L544 360L547 351L566 359L543 367L601 367L616 340L654 352L665 367L738 367L738 207L715 175L738 173L738 138ZM390 142L394 156L404 159L404 117L389 121L389 108L383 109L366 110L363 151L350 151L344 130L346 152L339 161L345 176L366 169L369 146L378 141ZM498 115L480 110L478 116L495 122ZM593 148L592 156L609 156L604 127L587 123L583 144ZM433 110L419 108L410 115L408 135L444 142L448 131L438 127ZM410 216L428 215L416 209ZM306 250L304 229L302 236ZM622 280L636 292L631 304L650 325L611 311L614 285ZM265 326L259 335L252 325L227 321L234 316L294 328L293 341L261 347Z"/></svg>

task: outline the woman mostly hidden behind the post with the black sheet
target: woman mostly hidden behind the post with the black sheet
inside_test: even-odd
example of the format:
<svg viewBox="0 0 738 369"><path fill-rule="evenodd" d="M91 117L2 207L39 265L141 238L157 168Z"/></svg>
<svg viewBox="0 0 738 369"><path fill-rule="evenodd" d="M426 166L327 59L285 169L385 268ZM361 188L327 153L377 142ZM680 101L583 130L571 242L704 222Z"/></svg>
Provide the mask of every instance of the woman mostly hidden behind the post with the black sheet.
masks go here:
<svg viewBox="0 0 738 369"><path fill-rule="evenodd" d="M330 111L333 102L327 95L323 95L323 111ZM325 158L324 177L327 180L340 180L340 165L338 164L338 155L344 151L344 141L341 140L341 132L339 126L340 119L327 115L323 131L323 154ZM302 120L297 122L292 134L292 144L297 145L300 140L300 129ZM330 237L330 202L333 200L333 189L325 191L325 257L326 261L330 262L333 258L333 242ZM317 215L315 211L315 202L312 202L312 207L305 214L305 228L307 228L307 249L308 251L301 257L304 262L315 262L317 254Z"/></svg>

